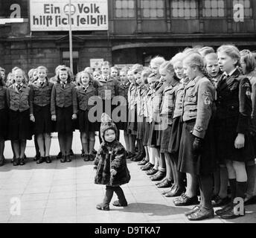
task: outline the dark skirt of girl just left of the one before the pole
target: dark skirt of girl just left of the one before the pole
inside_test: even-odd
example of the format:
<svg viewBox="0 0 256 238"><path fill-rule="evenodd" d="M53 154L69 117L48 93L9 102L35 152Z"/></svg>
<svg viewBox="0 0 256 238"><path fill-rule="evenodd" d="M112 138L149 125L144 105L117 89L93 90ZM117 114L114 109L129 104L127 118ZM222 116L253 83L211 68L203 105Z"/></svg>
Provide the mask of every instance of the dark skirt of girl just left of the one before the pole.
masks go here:
<svg viewBox="0 0 256 238"><path fill-rule="evenodd" d="M35 135L51 133L54 131L51 120L51 106L33 105L33 115L35 123L33 123L33 132Z"/></svg>

